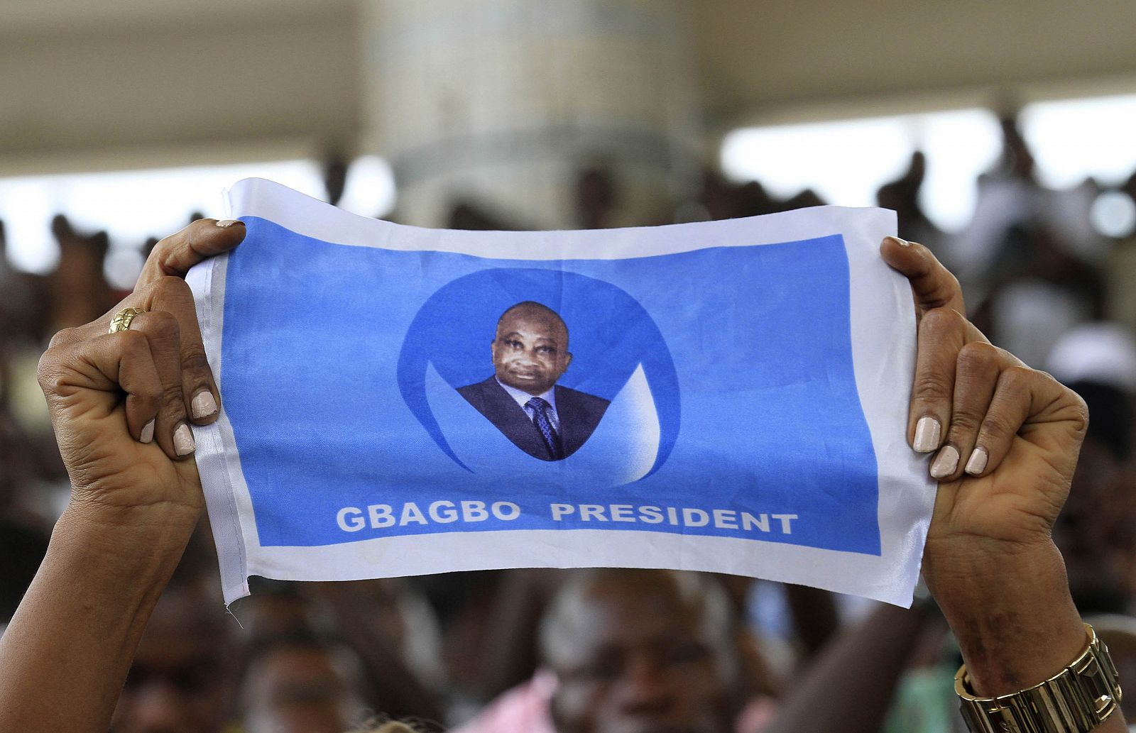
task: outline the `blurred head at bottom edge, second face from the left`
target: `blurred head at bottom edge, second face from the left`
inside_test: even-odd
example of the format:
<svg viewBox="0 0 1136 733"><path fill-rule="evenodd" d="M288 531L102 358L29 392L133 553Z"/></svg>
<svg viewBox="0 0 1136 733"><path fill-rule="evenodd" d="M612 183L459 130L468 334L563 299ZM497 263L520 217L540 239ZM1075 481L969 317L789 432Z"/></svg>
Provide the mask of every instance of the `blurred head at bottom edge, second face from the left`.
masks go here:
<svg viewBox="0 0 1136 733"><path fill-rule="evenodd" d="M245 675L245 733L343 733L364 717L361 667L346 649L283 644Z"/></svg>

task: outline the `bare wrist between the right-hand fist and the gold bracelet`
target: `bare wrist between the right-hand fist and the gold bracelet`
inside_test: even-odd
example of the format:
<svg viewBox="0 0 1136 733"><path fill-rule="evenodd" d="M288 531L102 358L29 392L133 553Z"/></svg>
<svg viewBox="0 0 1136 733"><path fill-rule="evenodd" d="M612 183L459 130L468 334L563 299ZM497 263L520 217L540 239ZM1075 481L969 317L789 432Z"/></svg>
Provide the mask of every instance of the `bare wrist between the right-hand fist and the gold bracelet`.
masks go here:
<svg viewBox="0 0 1136 733"><path fill-rule="evenodd" d="M958 553L928 547L925 573L976 693L1035 685L1085 644L1064 563L1049 540L1012 547L974 542Z"/></svg>

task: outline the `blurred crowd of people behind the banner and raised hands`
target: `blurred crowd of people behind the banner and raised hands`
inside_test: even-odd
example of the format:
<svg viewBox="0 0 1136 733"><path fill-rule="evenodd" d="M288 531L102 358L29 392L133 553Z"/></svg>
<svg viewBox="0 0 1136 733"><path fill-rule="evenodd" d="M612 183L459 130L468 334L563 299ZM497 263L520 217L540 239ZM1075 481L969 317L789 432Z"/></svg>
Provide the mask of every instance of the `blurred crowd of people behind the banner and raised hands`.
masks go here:
<svg viewBox="0 0 1136 733"><path fill-rule="evenodd" d="M1097 233L1089 208L1100 187L1089 180L1070 191L1045 188L1014 120L1002 127L1001 159L977 182L974 219L960 233L941 231L920 208L925 161L918 152L902 176L879 188L878 203L897 212L900 236L926 244L958 275L970 318L994 344L1088 402L1092 424L1055 539L1081 613L1096 620L1121 674L1131 675L1136 236ZM342 195L350 166L326 161L329 202ZM782 200L760 182L740 184L709 169L696 196L660 201L652 221L620 214L619 179L602 165L582 166L573 191L580 228L826 203L811 191ZM1136 200L1136 172L1119 191ZM186 222L199 216L185 214ZM390 218L398 220L398 209ZM511 229L526 217L456 201L445 224ZM66 212L51 230L58 266L32 275L6 263L0 222L0 625L67 500L35 384L39 355L57 330L109 320L125 294L105 276L106 233L77 229ZM164 234L139 242L140 251ZM686 706L757 732L787 730L803 705L852 705L855 713L833 718L842 723L828 730L961 730L952 694L960 660L929 604L883 608L734 576L515 570L334 584L265 580L232 608L237 624L217 613L212 551L202 528L147 632L116 730L319 733L384 711L425 730L540 732L554 719L561 733L607 733L641 730L626 721L655 716L657 730L678 731L666 727L666 716ZM621 623L630 618L635 623ZM700 626L705 618L716 621L709 632ZM655 621L666 633L654 641L636 637ZM849 668L849 659L857 665ZM875 697L850 703L830 688L809 694L810 680L826 668L870 677ZM1127 715L1136 719L1136 709Z"/></svg>

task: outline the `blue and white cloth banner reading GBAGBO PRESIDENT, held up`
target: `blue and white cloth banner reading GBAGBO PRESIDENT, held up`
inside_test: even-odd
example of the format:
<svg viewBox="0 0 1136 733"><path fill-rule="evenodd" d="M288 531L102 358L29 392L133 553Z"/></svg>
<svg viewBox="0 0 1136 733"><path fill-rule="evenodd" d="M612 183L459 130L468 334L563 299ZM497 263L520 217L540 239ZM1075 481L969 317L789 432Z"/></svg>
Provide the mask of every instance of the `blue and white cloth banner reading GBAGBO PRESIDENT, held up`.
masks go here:
<svg viewBox="0 0 1136 733"><path fill-rule="evenodd" d="M905 441L892 212L449 231L265 180L189 280L226 600L250 574L704 570L908 605L934 485Z"/></svg>

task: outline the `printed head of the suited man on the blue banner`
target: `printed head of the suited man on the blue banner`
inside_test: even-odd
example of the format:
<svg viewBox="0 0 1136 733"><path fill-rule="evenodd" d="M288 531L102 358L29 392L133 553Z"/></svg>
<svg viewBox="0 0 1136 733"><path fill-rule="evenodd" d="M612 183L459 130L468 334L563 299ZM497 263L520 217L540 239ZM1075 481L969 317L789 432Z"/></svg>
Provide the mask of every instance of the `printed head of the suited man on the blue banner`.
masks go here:
<svg viewBox="0 0 1136 733"><path fill-rule="evenodd" d="M501 384L531 395L552 389L571 362L568 328L554 311L537 303L520 303L504 312L492 351Z"/></svg>

